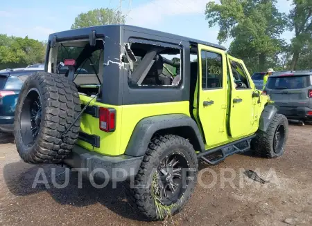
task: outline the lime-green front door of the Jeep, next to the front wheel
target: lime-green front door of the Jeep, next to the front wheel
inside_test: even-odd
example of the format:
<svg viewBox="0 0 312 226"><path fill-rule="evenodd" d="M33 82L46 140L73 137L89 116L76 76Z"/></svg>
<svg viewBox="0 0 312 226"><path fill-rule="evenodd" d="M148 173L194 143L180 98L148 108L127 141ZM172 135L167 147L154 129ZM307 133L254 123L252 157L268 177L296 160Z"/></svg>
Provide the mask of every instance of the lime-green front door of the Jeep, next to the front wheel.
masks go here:
<svg viewBox="0 0 312 226"><path fill-rule="evenodd" d="M232 138L252 133L254 124L254 84L242 60L228 56L232 82L229 131Z"/></svg>

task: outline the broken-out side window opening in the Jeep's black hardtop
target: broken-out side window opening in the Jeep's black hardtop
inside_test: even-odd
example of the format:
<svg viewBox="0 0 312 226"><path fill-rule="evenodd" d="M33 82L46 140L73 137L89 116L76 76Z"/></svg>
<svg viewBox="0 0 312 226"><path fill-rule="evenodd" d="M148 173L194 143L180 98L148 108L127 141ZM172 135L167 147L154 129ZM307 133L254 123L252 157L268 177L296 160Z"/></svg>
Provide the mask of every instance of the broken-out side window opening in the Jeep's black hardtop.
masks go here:
<svg viewBox="0 0 312 226"><path fill-rule="evenodd" d="M128 66L131 88L179 88L182 84L179 46L134 42L128 46L123 62Z"/></svg>

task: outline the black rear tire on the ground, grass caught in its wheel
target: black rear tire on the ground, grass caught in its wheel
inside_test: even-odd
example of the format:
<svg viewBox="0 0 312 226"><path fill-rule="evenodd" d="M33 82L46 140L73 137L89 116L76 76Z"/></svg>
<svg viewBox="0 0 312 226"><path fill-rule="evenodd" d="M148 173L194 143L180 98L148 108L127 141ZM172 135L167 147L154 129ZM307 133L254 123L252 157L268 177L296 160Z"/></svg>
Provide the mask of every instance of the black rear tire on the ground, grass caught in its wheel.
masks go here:
<svg viewBox="0 0 312 226"><path fill-rule="evenodd" d="M159 216L159 214L157 214L155 200L153 200L152 197L152 177L155 173L155 169L159 167L162 158L177 150L184 155L184 158L189 162L189 167L193 169L191 171L191 178L193 179L190 180L182 197L180 197L176 203L171 205L169 208L170 212L166 212L163 216ZM131 184L130 181L126 182L125 193L128 196L130 205L138 209L141 214L146 216L149 220L164 220L168 215L173 216L174 214L177 214L177 212L179 212L188 202L196 185L197 171L198 160L196 152L189 140L177 135L157 135L150 141L150 144L148 144L148 150L146 151L146 155L144 156L137 176L135 176L134 184Z"/></svg>

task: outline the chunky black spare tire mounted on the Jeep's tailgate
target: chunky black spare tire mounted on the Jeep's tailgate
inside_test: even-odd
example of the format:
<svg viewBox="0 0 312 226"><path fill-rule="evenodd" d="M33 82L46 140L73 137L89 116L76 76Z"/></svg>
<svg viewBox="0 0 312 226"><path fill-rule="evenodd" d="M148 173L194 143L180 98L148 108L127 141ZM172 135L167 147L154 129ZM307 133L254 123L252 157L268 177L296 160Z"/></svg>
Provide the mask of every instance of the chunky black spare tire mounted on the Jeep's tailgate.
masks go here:
<svg viewBox="0 0 312 226"><path fill-rule="evenodd" d="M80 111L76 85L67 77L46 72L29 76L15 109L14 135L21 159L42 164L67 158L78 138L80 120L69 126Z"/></svg>

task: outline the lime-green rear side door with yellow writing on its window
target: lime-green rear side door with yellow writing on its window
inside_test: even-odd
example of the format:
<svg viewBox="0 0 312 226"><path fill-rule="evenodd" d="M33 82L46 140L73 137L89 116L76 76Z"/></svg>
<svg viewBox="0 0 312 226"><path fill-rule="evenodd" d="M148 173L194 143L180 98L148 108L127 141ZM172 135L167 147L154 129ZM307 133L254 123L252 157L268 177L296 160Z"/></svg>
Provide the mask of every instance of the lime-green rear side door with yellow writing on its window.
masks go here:
<svg viewBox="0 0 312 226"><path fill-rule="evenodd" d="M207 148L227 140L227 70L223 50L198 44L197 110Z"/></svg>

